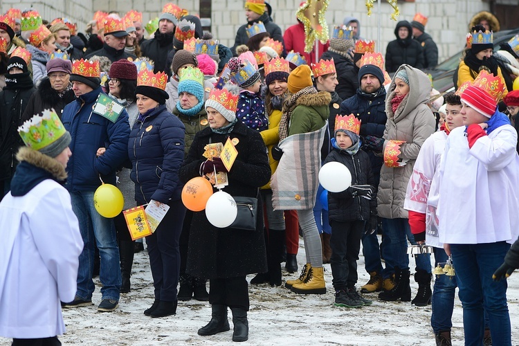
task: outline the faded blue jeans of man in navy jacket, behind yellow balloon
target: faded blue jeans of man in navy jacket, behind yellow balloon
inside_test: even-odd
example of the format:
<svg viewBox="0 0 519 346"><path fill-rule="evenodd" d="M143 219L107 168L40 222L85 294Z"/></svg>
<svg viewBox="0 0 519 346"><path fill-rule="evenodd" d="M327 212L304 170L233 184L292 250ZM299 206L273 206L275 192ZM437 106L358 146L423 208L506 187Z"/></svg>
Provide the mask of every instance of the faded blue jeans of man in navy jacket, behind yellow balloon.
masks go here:
<svg viewBox="0 0 519 346"><path fill-rule="evenodd" d="M119 300L121 284L119 248L113 219L102 217L93 206L93 191L71 192L72 210L78 217L84 248L78 269L78 292L82 300L92 298L94 242L99 249L102 299Z"/></svg>

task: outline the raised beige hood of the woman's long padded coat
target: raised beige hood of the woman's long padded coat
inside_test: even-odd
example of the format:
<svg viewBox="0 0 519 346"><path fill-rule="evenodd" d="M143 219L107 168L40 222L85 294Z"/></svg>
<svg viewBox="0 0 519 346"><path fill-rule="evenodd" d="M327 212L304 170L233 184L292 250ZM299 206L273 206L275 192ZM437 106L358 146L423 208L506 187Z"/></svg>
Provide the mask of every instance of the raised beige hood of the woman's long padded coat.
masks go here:
<svg viewBox="0 0 519 346"><path fill-rule="evenodd" d="M399 67L394 75L397 75L401 69L406 69L409 78L409 93L408 96L404 99L400 107L403 109L397 109L397 118L404 118L410 113L413 109L415 109L419 104L426 103L430 99L430 91L432 90L432 86L430 85L430 79L428 76L420 71L419 69L415 69L414 67L403 64ZM391 84L389 86L389 93L385 98L385 113L388 114L388 118L393 118L394 113L391 109L391 100L394 98L394 77L391 80ZM396 119L396 118L395 118Z"/></svg>

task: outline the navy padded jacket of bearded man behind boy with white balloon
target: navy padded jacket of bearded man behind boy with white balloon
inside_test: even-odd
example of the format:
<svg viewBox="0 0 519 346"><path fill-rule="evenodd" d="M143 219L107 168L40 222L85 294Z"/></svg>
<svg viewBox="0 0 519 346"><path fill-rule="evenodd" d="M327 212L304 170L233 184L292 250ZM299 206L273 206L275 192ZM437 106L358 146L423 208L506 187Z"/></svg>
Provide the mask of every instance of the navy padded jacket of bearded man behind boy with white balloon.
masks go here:
<svg viewBox="0 0 519 346"><path fill-rule="evenodd" d="M381 89L376 95L366 95L361 89L357 89L356 95L344 100L340 104L340 113L344 115L354 114L361 120L361 137L376 136L382 138L385 130L385 122L388 116L385 115L385 88ZM372 150L367 151L370 156L372 171L375 176L376 186L379 185L380 169L383 158L376 156Z"/></svg>

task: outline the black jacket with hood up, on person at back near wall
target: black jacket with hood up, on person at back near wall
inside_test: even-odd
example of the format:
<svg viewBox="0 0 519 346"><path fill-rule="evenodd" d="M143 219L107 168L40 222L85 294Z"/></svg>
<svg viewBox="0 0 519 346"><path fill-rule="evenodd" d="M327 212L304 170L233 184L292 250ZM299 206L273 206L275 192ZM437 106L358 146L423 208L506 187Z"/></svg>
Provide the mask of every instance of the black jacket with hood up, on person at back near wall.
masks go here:
<svg viewBox="0 0 519 346"><path fill-rule="evenodd" d="M409 30L409 35L405 39L399 38L399 28L405 26ZM385 48L385 71L395 72L401 64L408 64L417 69L424 69L424 52L419 42L412 39L412 26L408 21L399 21L397 28L394 29L397 37L388 43Z"/></svg>

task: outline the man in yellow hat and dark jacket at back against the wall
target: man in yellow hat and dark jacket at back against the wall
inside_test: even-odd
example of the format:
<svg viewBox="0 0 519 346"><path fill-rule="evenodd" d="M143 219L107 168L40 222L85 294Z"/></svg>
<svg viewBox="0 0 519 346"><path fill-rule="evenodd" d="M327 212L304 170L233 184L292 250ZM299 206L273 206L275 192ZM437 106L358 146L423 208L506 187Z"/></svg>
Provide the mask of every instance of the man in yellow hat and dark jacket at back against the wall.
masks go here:
<svg viewBox="0 0 519 346"><path fill-rule="evenodd" d="M260 1L254 1L249 2L246 0L245 2L245 17L247 17L247 24L244 24L239 27L236 38L235 38L235 45L230 48L230 51L233 52L233 55L237 57L236 53L236 47L240 44L247 44L248 41L248 35L247 35L247 28L250 25L253 25L257 23L258 21L261 21L266 29L266 32L271 35L272 39L275 39L277 42L281 42L283 44L283 33L281 32L281 28L277 26L272 21L272 18L268 15L268 12L266 12L266 6L265 3L260 3ZM284 47L284 46L283 46ZM283 48L284 51L284 48Z"/></svg>

